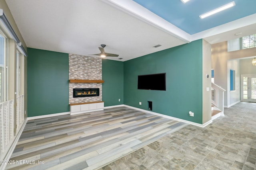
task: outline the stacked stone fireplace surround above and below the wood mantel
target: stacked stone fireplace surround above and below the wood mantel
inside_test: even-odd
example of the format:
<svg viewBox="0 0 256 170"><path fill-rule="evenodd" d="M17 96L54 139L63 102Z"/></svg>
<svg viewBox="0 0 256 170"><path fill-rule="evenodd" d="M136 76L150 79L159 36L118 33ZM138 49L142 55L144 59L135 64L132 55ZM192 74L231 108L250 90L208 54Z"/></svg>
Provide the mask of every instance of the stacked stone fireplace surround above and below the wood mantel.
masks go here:
<svg viewBox="0 0 256 170"><path fill-rule="evenodd" d="M69 54L70 80L102 80L102 59ZM99 88L100 96L73 98L73 88ZM69 104L102 101L102 83L69 83Z"/></svg>

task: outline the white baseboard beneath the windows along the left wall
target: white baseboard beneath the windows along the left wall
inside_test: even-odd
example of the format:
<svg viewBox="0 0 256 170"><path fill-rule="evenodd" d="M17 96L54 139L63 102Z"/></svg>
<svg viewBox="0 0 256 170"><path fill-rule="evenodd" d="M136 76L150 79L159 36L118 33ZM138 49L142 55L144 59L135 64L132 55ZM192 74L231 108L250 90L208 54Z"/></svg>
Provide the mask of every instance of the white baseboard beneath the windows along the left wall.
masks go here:
<svg viewBox="0 0 256 170"><path fill-rule="evenodd" d="M10 149L8 150L8 152L6 153L5 157L3 160L9 160L10 157L12 156L12 152L14 151L19 139L20 139L20 135L22 134L24 127L26 126L28 119L25 119L25 121L23 122L22 126L20 127L20 130L18 131L17 135L15 136L12 145L10 147ZM4 170L7 164L0 164L0 169Z"/></svg>

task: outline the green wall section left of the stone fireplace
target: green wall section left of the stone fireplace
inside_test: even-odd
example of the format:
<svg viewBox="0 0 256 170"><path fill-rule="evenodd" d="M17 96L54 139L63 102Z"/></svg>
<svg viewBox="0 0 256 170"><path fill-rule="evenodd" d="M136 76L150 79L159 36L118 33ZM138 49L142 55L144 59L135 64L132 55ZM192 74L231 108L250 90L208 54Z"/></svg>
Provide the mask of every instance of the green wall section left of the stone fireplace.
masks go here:
<svg viewBox="0 0 256 170"><path fill-rule="evenodd" d="M68 54L28 48L28 117L69 111Z"/></svg>

